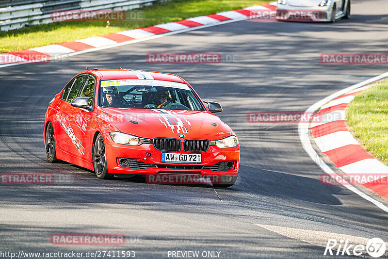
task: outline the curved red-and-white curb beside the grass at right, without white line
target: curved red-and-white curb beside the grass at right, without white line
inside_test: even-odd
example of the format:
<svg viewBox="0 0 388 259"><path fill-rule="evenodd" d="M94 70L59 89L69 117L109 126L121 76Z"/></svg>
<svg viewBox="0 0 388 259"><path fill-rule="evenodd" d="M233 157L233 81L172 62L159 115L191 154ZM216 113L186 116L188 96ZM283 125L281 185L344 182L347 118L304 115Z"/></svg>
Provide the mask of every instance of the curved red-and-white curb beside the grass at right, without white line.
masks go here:
<svg viewBox="0 0 388 259"><path fill-rule="evenodd" d="M323 154L325 154L336 167L349 175L373 175L375 180L362 184L373 192L388 199L388 166L373 158L358 144L348 131L345 123L345 109L356 95L369 88L371 85L357 88L349 93L337 97L324 105L315 114L316 121L311 123L311 135ZM380 180L378 180L380 179Z"/></svg>

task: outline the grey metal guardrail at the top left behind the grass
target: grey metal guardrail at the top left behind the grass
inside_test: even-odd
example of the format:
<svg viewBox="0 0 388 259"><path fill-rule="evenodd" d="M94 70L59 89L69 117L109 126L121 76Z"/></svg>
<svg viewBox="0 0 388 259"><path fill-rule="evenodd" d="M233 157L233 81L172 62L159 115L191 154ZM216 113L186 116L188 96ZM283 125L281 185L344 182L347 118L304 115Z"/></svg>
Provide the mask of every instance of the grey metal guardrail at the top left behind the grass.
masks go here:
<svg viewBox="0 0 388 259"><path fill-rule="evenodd" d="M53 22L54 10L130 10L161 0L0 0L0 31Z"/></svg>

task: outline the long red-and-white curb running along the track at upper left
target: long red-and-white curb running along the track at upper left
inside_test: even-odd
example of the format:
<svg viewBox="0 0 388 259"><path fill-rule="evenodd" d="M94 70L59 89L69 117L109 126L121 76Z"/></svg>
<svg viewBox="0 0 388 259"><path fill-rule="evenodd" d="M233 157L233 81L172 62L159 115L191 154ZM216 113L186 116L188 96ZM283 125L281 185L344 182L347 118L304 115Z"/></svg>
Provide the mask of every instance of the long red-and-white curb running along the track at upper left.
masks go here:
<svg viewBox="0 0 388 259"><path fill-rule="evenodd" d="M221 23L241 21L258 14L259 10L275 12L276 2L255 5L239 10L221 12L215 15L198 16L181 21L159 24L151 27L117 32L105 36L96 36L49 46L32 48L0 54L0 67L33 62L47 62L99 49L113 48L121 45L155 38L156 35L171 35L210 27Z"/></svg>

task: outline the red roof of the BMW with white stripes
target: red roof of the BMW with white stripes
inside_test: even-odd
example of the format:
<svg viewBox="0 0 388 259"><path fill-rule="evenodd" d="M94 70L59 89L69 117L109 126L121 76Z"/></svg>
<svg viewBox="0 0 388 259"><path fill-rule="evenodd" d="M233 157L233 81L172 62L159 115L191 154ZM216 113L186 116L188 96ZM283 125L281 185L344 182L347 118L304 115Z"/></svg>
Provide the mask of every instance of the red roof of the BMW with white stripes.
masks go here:
<svg viewBox="0 0 388 259"><path fill-rule="evenodd" d="M173 74L160 72L143 71L143 70L126 70L126 69L103 69L103 70L87 70L81 74L93 74L100 80L119 80L119 79L150 79L185 83L183 79Z"/></svg>

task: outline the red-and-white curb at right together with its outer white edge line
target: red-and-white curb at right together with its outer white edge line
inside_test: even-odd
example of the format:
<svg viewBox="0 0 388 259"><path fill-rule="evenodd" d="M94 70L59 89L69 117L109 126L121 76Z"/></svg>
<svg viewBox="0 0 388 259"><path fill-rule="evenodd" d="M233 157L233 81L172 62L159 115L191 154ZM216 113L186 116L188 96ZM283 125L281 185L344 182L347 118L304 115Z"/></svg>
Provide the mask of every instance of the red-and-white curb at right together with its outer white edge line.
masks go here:
<svg viewBox="0 0 388 259"><path fill-rule="evenodd" d="M344 173L349 175L388 175L388 167L365 151L348 131L345 123L345 109L355 96L370 87L371 83L386 77L388 77L388 73L350 86L322 99L306 110L306 113L318 112L314 115L310 125L299 124L299 137L307 154L328 175L338 177L312 147L309 140L309 130L311 130L311 135L318 148ZM387 181L388 179L384 180ZM362 185L388 199L388 186L386 183L382 183L384 180L373 180ZM368 194L361 192L355 186L350 185L346 181L344 182L343 186L345 188L388 212L387 206Z"/></svg>

